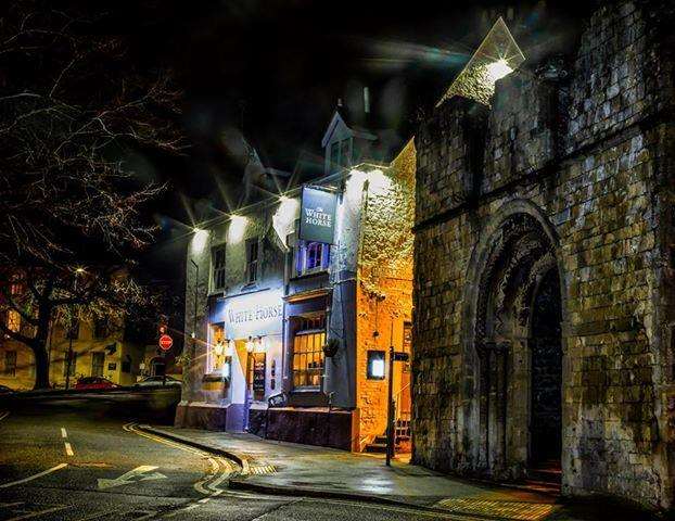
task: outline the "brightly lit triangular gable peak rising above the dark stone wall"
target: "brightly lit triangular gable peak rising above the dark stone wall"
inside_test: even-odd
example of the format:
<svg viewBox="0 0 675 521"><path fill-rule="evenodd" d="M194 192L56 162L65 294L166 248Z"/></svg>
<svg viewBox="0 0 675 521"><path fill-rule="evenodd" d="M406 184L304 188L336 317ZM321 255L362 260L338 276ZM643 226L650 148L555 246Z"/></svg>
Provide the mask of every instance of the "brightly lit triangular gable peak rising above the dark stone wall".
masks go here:
<svg viewBox="0 0 675 521"><path fill-rule="evenodd" d="M489 105L495 81L515 71L524 61L525 55L499 17L436 106L454 96Z"/></svg>

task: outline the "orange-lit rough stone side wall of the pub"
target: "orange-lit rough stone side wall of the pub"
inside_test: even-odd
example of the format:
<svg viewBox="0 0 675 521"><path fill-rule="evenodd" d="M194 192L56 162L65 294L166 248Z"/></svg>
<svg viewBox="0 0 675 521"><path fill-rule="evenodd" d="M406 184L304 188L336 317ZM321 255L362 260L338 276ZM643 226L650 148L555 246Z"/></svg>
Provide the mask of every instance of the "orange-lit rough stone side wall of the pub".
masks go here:
<svg viewBox="0 0 675 521"><path fill-rule="evenodd" d="M386 430L387 380L367 378L368 351L383 351L389 367L389 347L402 351L404 322L411 320L415 164L410 141L390 167L367 174L356 295L359 449ZM396 391L400 363L396 363L394 381Z"/></svg>

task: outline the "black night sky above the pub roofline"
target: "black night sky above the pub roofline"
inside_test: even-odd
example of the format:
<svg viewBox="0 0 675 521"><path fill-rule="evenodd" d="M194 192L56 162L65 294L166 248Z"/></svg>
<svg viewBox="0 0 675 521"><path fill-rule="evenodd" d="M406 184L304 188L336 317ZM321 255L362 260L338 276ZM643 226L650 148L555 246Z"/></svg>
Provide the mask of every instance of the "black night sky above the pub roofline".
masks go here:
<svg viewBox="0 0 675 521"><path fill-rule="evenodd" d="M139 5L140 3L140 5ZM183 158L138 157L144 180L169 183L149 208L162 226L148 258L178 272L199 208L225 208L216 179L235 190L241 171L224 132L243 128L266 166L291 170L301 151L320 154L338 99L372 92L382 127L412 135L415 115L438 100L499 15L525 55L569 45L570 2L342 2L221 0L98 2L105 30L124 34L133 56L167 65L184 91L191 148ZM563 43L564 42L564 43ZM187 208L198 208L196 214ZM191 215L192 214L192 215Z"/></svg>

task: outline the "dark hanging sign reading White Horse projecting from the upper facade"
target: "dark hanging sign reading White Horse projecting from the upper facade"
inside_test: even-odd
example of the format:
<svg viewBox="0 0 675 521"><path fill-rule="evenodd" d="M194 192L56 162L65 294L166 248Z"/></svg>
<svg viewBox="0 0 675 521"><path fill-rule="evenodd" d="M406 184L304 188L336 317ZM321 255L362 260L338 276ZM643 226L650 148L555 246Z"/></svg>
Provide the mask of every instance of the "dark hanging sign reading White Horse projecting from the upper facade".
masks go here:
<svg viewBox="0 0 675 521"><path fill-rule="evenodd" d="M300 208L300 238L333 244L338 194L320 188L303 187Z"/></svg>

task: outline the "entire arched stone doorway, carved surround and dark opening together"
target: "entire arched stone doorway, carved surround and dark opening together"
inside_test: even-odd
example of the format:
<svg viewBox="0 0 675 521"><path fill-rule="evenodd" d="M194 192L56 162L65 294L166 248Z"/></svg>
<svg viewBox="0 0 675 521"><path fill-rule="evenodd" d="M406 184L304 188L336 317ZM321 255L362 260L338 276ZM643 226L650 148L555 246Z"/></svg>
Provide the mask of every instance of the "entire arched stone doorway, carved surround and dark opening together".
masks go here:
<svg viewBox="0 0 675 521"><path fill-rule="evenodd" d="M517 211L493 223L470 290L477 458L491 478L518 479L560 461L560 271L540 214Z"/></svg>

